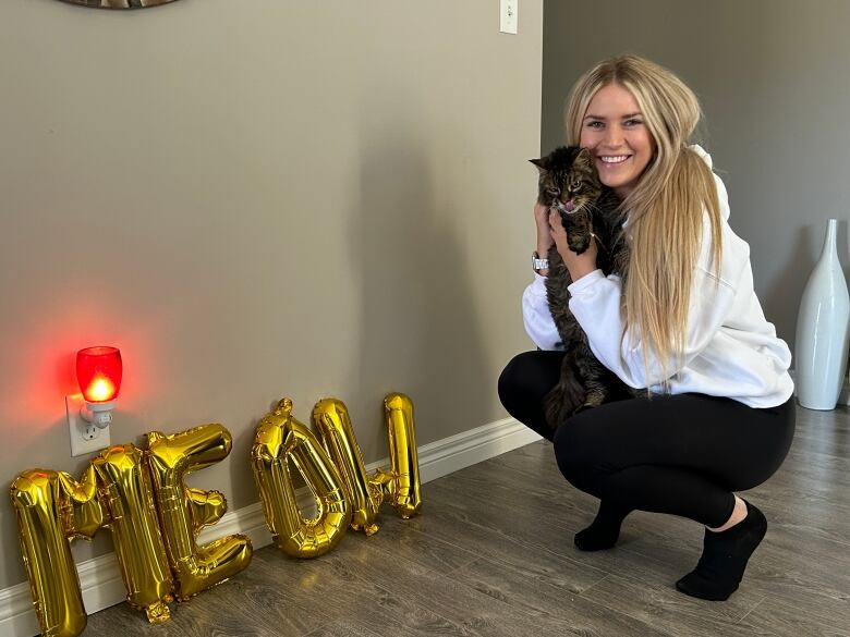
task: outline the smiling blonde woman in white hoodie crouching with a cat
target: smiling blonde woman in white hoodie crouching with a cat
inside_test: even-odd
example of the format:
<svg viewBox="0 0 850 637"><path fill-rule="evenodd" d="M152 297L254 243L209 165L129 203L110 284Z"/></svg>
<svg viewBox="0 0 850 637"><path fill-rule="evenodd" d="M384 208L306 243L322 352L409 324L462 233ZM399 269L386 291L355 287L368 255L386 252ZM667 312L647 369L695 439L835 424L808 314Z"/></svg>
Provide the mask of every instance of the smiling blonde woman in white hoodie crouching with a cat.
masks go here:
<svg viewBox="0 0 850 637"><path fill-rule="evenodd" d="M767 523L734 492L769 478L794 430L791 354L753 291L749 246L729 226L726 187L689 139L694 94L636 56L585 73L567 106L567 137L588 148L621 201L631 260L622 275L596 268L596 248L571 252L557 212L535 206L537 253L555 243L570 271L570 309L596 357L649 399L581 412L556 431L543 399L563 356L546 303L545 264L523 295L538 346L513 358L499 396L517 419L554 442L563 476L600 500L575 535L584 551L615 546L634 510L705 525L690 596L725 600L739 586Z"/></svg>

